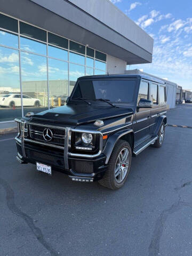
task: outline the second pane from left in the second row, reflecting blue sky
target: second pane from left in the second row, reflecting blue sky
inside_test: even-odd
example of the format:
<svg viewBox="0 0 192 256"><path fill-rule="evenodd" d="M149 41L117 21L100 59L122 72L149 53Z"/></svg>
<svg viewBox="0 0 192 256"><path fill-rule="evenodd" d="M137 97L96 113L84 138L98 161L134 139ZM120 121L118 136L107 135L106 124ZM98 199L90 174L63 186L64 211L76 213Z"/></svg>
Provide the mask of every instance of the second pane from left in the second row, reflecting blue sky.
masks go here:
<svg viewBox="0 0 192 256"><path fill-rule="evenodd" d="M20 37L20 47L22 50L28 52L35 52L42 55L46 55L46 44L39 43L26 37Z"/></svg>

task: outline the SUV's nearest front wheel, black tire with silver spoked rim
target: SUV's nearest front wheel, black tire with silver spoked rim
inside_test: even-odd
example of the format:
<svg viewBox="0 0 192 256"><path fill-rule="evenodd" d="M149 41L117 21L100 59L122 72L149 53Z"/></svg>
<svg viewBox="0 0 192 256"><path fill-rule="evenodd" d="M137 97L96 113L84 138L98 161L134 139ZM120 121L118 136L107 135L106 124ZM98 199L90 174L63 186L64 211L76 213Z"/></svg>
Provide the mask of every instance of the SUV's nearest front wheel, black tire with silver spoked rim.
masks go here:
<svg viewBox="0 0 192 256"><path fill-rule="evenodd" d="M121 161L123 156L126 161ZM132 150L129 143L125 140L118 140L111 153L106 173L98 181L99 184L112 190L121 188L130 172L131 158Z"/></svg>

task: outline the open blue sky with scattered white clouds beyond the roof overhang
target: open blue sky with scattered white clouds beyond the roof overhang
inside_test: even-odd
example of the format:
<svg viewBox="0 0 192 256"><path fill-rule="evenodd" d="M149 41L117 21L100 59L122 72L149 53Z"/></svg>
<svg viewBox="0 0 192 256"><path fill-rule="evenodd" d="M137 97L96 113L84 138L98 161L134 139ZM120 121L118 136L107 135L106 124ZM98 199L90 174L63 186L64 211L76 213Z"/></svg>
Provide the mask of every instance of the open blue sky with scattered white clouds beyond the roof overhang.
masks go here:
<svg viewBox="0 0 192 256"><path fill-rule="evenodd" d="M130 65L192 90L192 1L110 0L154 38L153 62Z"/></svg>

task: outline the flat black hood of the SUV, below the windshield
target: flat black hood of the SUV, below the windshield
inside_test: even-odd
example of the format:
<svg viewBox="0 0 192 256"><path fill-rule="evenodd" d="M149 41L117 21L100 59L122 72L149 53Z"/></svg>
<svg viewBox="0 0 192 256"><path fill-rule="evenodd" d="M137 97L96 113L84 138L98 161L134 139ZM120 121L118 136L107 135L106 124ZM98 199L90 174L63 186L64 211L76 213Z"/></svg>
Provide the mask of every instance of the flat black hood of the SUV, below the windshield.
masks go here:
<svg viewBox="0 0 192 256"><path fill-rule="evenodd" d="M49 109L33 116L32 121L36 119L52 121L55 123L79 125L83 123L94 122L97 119L113 118L132 114L131 108L112 107L105 105L86 106L86 105L66 105L58 108Z"/></svg>

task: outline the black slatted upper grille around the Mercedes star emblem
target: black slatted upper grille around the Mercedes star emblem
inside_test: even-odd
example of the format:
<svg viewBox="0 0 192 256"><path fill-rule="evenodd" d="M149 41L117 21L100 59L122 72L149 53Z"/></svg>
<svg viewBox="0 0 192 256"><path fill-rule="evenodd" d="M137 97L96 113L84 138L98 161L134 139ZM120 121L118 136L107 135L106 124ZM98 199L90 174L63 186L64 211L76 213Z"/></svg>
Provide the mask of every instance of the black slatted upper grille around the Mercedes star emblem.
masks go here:
<svg viewBox="0 0 192 256"><path fill-rule="evenodd" d="M53 137L50 141L47 141L43 137L43 131L46 129L45 126L38 126L30 124L30 138L33 140L43 141L46 143L52 143L59 146L64 146L65 142L65 130L52 129Z"/></svg>

